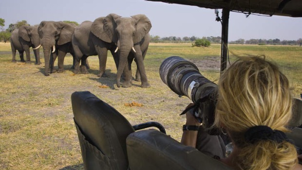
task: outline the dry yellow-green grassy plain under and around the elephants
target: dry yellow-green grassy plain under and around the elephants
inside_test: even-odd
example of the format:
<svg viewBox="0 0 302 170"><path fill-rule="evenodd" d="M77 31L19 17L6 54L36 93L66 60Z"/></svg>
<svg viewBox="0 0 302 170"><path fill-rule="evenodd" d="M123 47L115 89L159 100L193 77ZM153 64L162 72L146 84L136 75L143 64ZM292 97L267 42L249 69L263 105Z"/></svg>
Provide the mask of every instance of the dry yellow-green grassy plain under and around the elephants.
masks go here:
<svg viewBox="0 0 302 170"><path fill-rule="evenodd" d="M229 45L229 62L235 55L265 55L279 65L288 77L295 97L302 93L302 47ZM32 52L32 51L31 51ZM17 55L18 52L17 52ZM44 76L41 65L12 63L9 43L0 43L0 169L1 170L82 170L82 157L73 121L71 94L90 91L107 102L132 125L156 121L174 139L180 141L185 116L180 116L191 102L179 97L159 76L159 66L170 56L193 62L201 74L215 81L220 76L220 45L208 48L191 44L151 43L145 68L151 88L132 81L130 88L117 88L113 57L107 60L108 77L97 77L98 57L88 57L89 74L75 75L72 57L64 60L64 73ZM19 56L16 56L19 59ZM57 62L56 62L57 63ZM55 67L57 68L57 66ZM136 66L132 63L132 74ZM131 107L131 103L138 103Z"/></svg>

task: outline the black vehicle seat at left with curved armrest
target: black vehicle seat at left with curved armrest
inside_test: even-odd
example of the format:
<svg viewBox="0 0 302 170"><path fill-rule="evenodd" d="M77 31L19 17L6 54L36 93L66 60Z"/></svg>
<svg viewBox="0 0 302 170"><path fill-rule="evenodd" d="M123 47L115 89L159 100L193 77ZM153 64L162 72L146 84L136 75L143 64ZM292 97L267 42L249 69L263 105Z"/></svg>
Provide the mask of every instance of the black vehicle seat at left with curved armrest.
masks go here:
<svg viewBox="0 0 302 170"><path fill-rule="evenodd" d="M85 170L127 170L126 137L130 133L148 127L165 133L157 122L132 126L122 114L88 91L74 92L71 100Z"/></svg>

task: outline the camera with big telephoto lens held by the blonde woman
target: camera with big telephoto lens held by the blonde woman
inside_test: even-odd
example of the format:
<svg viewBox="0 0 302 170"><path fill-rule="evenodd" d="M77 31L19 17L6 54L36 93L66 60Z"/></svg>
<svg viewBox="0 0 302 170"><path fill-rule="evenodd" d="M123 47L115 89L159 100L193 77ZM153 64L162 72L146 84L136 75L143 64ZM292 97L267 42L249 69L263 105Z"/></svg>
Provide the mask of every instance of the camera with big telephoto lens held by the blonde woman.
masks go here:
<svg viewBox="0 0 302 170"><path fill-rule="evenodd" d="M196 65L188 60L171 56L161 63L159 75L162 81L176 94L187 96L194 103L187 108L211 135L220 134L212 127L215 118L217 101L217 84L203 76ZM183 114L182 113L182 114Z"/></svg>

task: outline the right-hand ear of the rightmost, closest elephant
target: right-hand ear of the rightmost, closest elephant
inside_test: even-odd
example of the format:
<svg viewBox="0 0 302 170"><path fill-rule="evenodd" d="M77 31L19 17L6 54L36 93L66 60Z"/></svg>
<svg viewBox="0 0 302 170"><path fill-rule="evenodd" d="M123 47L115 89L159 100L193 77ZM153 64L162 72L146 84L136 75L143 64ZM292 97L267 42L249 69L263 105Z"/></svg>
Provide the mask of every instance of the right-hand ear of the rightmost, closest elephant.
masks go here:
<svg viewBox="0 0 302 170"><path fill-rule="evenodd" d="M152 24L148 17L144 14L139 14L131 17L136 23L136 31L133 36L133 43L136 44L140 42L149 33Z"/></svg>

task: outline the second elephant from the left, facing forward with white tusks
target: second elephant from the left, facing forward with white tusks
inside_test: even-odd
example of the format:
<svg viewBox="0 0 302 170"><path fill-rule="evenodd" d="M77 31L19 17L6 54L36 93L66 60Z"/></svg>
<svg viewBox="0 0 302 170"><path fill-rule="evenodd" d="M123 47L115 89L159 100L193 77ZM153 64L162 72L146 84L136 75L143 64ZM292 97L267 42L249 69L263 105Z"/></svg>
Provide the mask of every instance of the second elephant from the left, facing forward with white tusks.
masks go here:
<svg viewBox="0 0 302 170"><path fill-rule="evenodd" d="M76 25L65 23L61 21L41 21L38 26L38 34L40 37L40 45L43 46L43 53L45 59L45 76L49 73L54 73L54 62L58 58L57 73L64 72L64 58L66 53L72 54L75 57L71 44L71 37L74 33ZM36 48L36 49L37 49ZM52 50L52 52L51 52ZM88 62L87 67L89 67Z"/></svg>

